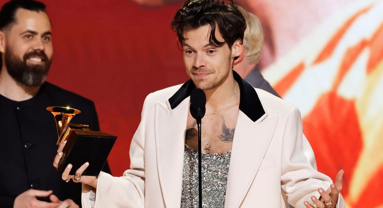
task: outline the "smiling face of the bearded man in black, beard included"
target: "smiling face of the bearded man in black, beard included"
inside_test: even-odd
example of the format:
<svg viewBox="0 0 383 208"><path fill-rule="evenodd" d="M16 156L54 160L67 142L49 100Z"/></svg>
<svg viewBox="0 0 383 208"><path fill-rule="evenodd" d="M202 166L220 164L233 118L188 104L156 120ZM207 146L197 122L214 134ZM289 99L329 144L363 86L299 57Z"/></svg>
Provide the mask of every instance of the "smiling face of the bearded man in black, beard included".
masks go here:
<svg viewBox="0 0 383 208"><path fill-rule="evenodd" d="M46 80L53 55L51 25L45 12L16 11L16 23L5 33L4 60L17 82L37 87Z"/></svg>

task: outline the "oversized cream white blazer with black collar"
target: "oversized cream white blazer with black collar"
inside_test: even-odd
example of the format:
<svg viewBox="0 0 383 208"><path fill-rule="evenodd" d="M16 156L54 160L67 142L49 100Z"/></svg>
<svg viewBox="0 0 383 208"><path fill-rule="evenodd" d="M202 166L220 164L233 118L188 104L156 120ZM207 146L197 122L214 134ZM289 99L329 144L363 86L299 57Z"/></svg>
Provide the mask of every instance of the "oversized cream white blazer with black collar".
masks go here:
<svg viewBox="0 0 383 208"><path fill-rule="evenodd" d="M304 208L331 178L307 161L299 110L233 72L240 104L227 178L225 208ZM189 80L149 94L130 146L130 169L123 177L101 173L97 190L83 185L84 208L179 208ZM203 125L203 123L202 123ZM345 207L339 195L337 207Z"/></svg>

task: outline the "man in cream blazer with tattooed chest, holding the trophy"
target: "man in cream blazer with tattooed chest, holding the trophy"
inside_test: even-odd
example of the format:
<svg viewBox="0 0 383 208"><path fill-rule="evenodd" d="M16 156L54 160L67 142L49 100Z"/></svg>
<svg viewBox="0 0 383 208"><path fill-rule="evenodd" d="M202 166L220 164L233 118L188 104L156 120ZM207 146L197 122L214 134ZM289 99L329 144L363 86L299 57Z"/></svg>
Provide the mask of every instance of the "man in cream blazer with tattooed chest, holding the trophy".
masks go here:
<svg viewBox="0 0 383 208"><path fill-rule="evenodd" d="M194 150L197 146L196 136L187 131L194 130L189 107L195 88L202 89L207 98L201 131L207 148L202 153L231 152L224 208L344 207L339 194L343 171L333 184L304 155L309 146L302 138L299 110L253 88L232 70L242 51L245 28L243 15L231 2L185 2L172 29L182 45L191 79L146 97L130 146L130 169L123 177L81 176L89 163L75 176L69 175L70 165L64 170L63 180L82 182L84 208L181 206L185 145Z"/></svg>

